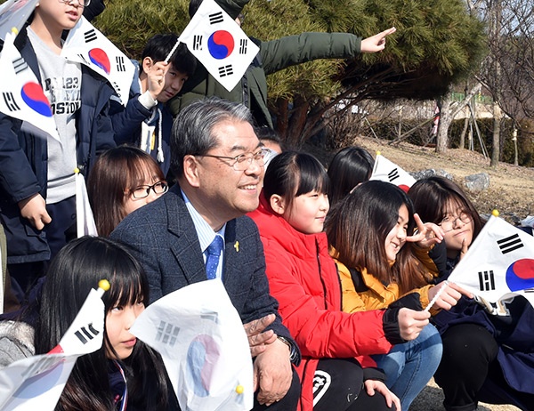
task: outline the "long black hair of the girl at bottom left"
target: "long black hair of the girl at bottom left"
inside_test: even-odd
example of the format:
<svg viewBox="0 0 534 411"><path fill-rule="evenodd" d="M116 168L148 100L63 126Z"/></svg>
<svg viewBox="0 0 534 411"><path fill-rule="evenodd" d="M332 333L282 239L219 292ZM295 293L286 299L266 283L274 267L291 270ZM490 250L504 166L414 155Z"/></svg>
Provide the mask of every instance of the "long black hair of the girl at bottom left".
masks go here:
<svg viewBox="0 0 534 411"><path fill-rule="evenodd" d="M149 284L141 265L124 246L108 238L83 237L64 246L47 273L36 323L36 354L52 350L77 315L91 288L108 279L102 301L108 313L117 305L149 302ZM107 335L100 350L77 359L56 409L109 411L114 409L109 385ZM165 409L169 402L163 361L141 341L120 361L125 370L128 402L141 409Z"/></svg>

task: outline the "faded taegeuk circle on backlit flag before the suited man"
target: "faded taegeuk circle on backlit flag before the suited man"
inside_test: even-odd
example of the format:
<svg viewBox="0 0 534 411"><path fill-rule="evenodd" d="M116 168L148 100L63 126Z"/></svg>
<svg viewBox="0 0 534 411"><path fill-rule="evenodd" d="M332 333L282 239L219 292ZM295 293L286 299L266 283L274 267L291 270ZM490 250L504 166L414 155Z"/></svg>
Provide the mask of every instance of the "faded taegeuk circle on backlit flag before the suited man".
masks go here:
<svg viewBox="0 0 534 411"><path fill-rule="evenodd" d="M187 380L188 386L198 397L209 395L214 366L220 354L219 346L209 335L197 335L190 342L187 351Z"/></svg>

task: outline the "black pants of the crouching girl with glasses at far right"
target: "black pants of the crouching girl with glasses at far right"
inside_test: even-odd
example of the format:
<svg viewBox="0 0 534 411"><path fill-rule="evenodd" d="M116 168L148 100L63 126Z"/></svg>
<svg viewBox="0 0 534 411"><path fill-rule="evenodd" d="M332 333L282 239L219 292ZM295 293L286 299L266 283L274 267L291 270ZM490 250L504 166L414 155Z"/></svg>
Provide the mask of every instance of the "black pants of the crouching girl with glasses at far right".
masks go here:
<svg viewBox="0 0 534 411"><path fill-rule="evenodd" d="M534 396L514 391L496 360L498 343L483 326L460 324L441 335L443 356L434 379L448 411L472 411L477 402L534 409Z"/></svg>

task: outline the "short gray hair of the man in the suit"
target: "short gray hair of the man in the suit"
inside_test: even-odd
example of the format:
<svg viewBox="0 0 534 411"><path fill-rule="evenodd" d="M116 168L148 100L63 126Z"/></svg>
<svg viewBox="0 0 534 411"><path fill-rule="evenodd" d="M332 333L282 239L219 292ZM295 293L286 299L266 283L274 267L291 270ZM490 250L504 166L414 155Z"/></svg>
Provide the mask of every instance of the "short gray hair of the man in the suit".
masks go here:
<svg viewBox="0 0 534 411"><path fill-rule="evenodd" d="M217 147L214 126L224 121L247 122L253 125L252 114L246 106L210 97L191 103L174 119L171 133L171 171L182 177L183 157L201 156Z"/></svg>

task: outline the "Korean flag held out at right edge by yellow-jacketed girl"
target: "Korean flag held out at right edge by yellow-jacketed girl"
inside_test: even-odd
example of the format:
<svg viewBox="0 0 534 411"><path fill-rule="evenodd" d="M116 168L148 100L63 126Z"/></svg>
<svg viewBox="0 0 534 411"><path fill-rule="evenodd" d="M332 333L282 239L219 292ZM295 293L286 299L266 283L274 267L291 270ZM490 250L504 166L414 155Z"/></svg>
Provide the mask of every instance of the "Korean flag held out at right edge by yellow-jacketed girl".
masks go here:
<svg viewBox="0 0 534 411"><path fill-rule="evenodd" d="M492 215L449 280L495 315L507 315L506 300L515 295L534 306L534 237Z"/></svg>

